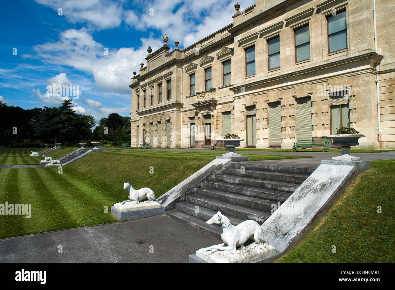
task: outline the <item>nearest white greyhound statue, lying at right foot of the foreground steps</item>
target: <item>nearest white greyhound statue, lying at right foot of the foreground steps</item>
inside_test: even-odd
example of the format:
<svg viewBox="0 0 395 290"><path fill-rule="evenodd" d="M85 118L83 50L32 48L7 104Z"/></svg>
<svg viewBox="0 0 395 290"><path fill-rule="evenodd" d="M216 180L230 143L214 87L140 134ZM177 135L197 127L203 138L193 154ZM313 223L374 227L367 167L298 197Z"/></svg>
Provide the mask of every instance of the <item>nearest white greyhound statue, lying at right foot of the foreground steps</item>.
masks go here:
<svg viewBox="0 0 395 290"><path fill-rule="evenodd" d="M208 250L217 249L222 251L235 251L237 247L243 245L249 238L253 239L255 243L260 245L265 243L263 239L263 232L258 222L255 220L245 220L237 226L230 223L229 218L221 214L220 211L207 220L207 224L220 224L222 226L222 243L221 245L214 245ZM225 246L227 245L227 246Z"/></svg>

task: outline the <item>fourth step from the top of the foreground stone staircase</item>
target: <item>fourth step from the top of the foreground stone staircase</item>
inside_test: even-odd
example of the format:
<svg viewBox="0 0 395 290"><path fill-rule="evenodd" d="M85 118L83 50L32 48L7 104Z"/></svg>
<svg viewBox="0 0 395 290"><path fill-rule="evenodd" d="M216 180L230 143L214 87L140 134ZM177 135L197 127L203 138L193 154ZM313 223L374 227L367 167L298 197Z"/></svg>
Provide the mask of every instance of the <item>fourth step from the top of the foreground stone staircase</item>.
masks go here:
<svg viewBox="0 0 395 290"><path fill-rule="evenodd" d="M254 198L262 198L265 200L284 202L289 196L290 192L281 192L269 190L265 188L256 188L245 185L235 185L233 183L226 183L221 181L206 181L205 186L208 188L218 189L225 192L243 194Z"/></svg>

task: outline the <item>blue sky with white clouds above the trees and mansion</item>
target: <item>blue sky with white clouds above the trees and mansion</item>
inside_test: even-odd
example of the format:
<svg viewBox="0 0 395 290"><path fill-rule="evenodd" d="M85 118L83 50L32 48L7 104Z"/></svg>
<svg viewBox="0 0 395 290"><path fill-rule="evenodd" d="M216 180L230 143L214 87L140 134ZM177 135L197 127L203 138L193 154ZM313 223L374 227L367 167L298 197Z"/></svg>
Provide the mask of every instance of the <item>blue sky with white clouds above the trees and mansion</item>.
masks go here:
<svg viewBox="0 0 395 290"><path fill-rule="evenodd" d="M241 3L242 9L254 0ZM78 113L130 113L132 72L166 33L182 49L232 22L229 0L13 0L0 10L0 100L30 109L60 105L47 86L75 85ZM59 9L61 9L60 14ZM108 54L105 54L108 51Z"/></svg>

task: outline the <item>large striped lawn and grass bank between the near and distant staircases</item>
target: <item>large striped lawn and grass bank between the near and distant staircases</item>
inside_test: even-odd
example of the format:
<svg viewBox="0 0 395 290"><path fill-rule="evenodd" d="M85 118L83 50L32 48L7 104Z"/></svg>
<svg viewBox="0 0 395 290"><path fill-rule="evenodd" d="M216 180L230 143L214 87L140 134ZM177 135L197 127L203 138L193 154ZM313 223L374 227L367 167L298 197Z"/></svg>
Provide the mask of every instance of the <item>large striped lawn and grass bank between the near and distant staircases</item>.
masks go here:
<svg viewBox="0 0 395 290"><path fill-rule="evenodd" d="M250 160L295 157L246 155ZM159 197L215 156L215 152L99 151L64 166L62 174L58 167L0 169L0 203L32 204L31 218L0 216L0 238L113 222L108 214L111 206L128 196L124 182L137 189L150 187Z"/></svg>

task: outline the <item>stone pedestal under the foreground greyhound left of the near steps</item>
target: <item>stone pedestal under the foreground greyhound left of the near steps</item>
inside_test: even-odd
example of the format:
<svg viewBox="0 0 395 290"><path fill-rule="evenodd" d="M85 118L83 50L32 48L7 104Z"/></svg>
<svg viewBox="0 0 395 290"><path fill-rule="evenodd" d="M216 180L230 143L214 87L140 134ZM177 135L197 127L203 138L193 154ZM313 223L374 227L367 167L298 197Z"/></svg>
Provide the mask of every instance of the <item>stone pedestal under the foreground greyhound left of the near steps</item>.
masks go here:
<svg viewBox="0 0 395 290"><path fill-rule="evenodd" d="M140 203L127 202L122 205L121 202L115 203L111 207L111 215L124 222L125 220L134 220L136 218L152 217L154 215L163 215L165 208L158 202L143 201Z"/></svg>

